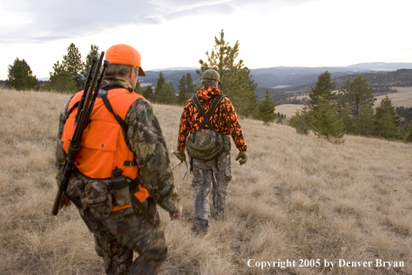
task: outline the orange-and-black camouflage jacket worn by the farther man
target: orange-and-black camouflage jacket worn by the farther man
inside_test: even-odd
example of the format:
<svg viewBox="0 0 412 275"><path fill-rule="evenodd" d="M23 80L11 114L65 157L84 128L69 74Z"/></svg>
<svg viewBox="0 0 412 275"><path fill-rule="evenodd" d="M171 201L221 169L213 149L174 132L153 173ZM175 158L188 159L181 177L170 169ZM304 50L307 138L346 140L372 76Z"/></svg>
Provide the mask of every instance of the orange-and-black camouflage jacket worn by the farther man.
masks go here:
<svg viewBox="0 0 412 275"><path fill-rule="evenodd" d="M221 90L214 88L202 88L197 92L200 103L205 110L205 114L209 111L210 103L212 99L218 94L221 94ZM178 138L178 150L183 151L186 148L186 138L189 133L194 133L203 122L203 117L200 115L193 101L189 99L183 108L182 117L180 118L179 126L179 138ZM221 135L231 135L239 151L246 151L248 148L245 139L243 138L243 131L234 110L232 102L228 97L222 99L220 105L214 111L210 122L218 133ZM208 129L205 126L205 129Z"/></svg>

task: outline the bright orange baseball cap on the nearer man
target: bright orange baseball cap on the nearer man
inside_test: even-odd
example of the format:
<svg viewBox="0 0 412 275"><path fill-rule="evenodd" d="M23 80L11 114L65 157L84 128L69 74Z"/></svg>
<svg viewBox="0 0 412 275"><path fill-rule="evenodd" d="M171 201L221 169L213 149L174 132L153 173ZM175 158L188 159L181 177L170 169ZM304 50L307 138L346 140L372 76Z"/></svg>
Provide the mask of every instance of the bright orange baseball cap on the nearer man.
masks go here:
<svg viewBox="0 0 412 275"><path fill-rule="evenodd" d="M141 57L139 51L126 44L113 45L106 51L106 60L111 64L123 64L139 67L139 76L146 76L141 69Z"/></svg>

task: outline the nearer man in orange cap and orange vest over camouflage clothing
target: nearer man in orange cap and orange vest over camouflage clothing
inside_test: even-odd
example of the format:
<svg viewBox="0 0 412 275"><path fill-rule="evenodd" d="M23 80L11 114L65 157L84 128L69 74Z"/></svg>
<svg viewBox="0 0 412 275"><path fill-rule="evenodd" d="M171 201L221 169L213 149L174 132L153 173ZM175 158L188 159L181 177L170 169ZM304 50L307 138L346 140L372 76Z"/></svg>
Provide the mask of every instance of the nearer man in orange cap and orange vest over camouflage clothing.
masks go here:
<svg viewBox="0 0 412 275"><path fill-rule="evenodd" d="M156 205L172 220L180 219L182 207L160 124L151 103L133 92L138 76L146 76L139 51L117 44L105 58L110 65L83 132L67 197L94 234L106 274L157 274L167 244ZM60 111L58 182L82 95L75 94ZM133 251L139 253L135 260Z"/></svg>

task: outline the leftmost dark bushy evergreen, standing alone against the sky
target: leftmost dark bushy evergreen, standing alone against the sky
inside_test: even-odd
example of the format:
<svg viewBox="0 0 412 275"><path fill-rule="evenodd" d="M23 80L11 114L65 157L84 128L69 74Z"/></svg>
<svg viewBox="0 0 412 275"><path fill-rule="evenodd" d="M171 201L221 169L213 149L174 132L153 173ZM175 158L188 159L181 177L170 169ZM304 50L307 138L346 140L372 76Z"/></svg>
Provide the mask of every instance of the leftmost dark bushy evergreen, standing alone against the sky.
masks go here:
<svg viewBox="0 0 412 275"><path fill-rule="evenodd" d="M33 89L38 81L36 76L33 76L33 72L26 63L26 60L19 60L17 57L13 65L8 65L6 83L16 90L28 90Z"/></svg>

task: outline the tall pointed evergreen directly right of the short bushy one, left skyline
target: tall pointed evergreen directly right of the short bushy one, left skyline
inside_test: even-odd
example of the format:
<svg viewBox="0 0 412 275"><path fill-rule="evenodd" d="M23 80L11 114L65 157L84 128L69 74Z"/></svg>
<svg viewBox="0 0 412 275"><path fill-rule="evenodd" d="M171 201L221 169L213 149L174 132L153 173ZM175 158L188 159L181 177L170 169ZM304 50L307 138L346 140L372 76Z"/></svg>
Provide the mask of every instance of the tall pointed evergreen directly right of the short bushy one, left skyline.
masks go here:
<svg viewBox="0 0 412 275"><path fill-rule="evenodd" d="M76 48L73 43L67 48L67 55L63 56L62 65L66 67L67 72L73 77L76 82L77 90L82 90L84 84L82 74L85 71L85 63L82 60L78 48Z"/></svg>

